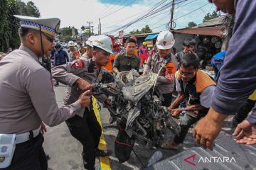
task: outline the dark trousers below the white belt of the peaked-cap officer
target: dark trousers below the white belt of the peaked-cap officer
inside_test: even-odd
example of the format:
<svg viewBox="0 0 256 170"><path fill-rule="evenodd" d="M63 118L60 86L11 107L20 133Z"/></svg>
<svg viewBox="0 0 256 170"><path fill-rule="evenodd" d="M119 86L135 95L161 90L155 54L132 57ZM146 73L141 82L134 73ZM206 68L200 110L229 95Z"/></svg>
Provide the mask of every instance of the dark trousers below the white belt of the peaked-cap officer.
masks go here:
<svg viewBox="0 0 256 170"><path fill-rule="evenodd" d="M47 170L46 153L43 150L43 135L16 144L11 165L1 170Z"/></svg>

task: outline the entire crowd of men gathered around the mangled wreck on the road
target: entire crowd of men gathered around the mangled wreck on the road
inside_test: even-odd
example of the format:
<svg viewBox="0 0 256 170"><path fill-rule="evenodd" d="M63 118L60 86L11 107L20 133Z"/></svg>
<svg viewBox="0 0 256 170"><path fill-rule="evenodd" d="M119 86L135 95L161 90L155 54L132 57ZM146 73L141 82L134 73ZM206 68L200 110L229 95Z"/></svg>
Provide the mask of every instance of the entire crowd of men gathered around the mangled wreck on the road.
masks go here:
<svg viewBox="0 0 256 170"><path fill-rule="evenodd" d="M164 142L161 145L164 149L178 149L189 128L197 122L193 130L196 142L211 149L223 120L230 114L235 115L235 140L256 144L256 64L252 64L256 24L250 19L255 18L256 1L210 2L223 12L236 12L237 18L227 52L213 57L218 75L215 79L199 69L195 40L186 39L183 50L172 54L175 40L170 31L159 33L156 49L150 52L146 43L137 50L134 36L126 40L122 49L115 45L112 36L92 35L86 47L82 43L75 47L75 42L68 42L67 53L59 43L53 42L60 24L58 18L15 16L21 20L21 46L0 62L0 147L10 146L11 153L1 149L0 169L47 169L44 123L55 126L63 122L82 144L85 169L95 169L95 157L109 154L97 149L102 129L91 98L92 83L99 81L102 69L113 74L143 70L142 77L149 72L159 74L156 88L164 97L162 105L175 118L183 115L181 132L174 140ZM245 32L247 28L250 29ZM45 56L53 57L51 72L39 60ZM67 85L61 108L55 101L52 79L56 81L55 86L58 82ZM174 89L178 96L173 100ZM95 98L105 105L111 102L105 95Z"/></svg>

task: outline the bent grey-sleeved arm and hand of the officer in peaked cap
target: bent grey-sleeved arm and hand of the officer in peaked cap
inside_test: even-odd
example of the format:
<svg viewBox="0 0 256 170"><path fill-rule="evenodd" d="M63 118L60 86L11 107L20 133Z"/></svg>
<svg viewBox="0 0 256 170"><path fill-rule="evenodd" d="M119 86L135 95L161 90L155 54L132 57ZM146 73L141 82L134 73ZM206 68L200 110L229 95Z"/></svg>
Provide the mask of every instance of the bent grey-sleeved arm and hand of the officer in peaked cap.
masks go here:
<svg viewBox="0 0 256 170"><path fill-rule="evenodd" d="M45 69L39 69L28 77L26 89L36 113L49 126L62 123L73 117L76 111L79 111L82 107L90 105L90 96L86 96L90 91L87 91L86 95L83 95L75 103L58 108L51 77Z"/></svg>

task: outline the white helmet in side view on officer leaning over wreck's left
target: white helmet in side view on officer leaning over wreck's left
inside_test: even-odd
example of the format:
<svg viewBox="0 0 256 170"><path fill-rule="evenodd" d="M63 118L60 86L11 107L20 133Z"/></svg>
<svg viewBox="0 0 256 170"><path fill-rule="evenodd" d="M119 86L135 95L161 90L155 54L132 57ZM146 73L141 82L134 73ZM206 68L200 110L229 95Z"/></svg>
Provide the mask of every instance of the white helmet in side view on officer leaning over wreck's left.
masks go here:
<svg viewBox="0 0 256 170"><path fill-rule="evenodd" d="M95 37L95 39L92 41L92 45L95 47L99 47L102 50L105 50L106 52L110 52L110 54L113 54L112 52L112 40L107 35L98 35Z"/></svg>

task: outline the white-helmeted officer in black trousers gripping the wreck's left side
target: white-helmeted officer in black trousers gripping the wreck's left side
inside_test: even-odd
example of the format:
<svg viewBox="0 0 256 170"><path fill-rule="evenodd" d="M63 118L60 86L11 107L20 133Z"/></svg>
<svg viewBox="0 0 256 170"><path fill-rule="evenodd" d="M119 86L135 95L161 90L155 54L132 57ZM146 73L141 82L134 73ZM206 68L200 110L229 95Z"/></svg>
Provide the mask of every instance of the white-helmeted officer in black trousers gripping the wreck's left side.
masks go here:
<svg viewBox="0 0 256 170"><path fill-rule="evenodd" d="M52 70L54 79L58 79L63 84L68 84L68 89L63 98L63 104L68 105L76 101L82 91L78 91L73 86L73 81L89 81L91 84L98 83L102 77L102 66L105 66L112 54L112 42L107 35L98 35L92 41L93 51L92 59L75 60ZM107 96L95 96L101 103L110 103ZM90 107L77 112L73 118L66 120L71 135L82 144L82 159L85 169L95 169L95 156L107 156L107 151L97 149L100 142L101 127L97 118Z"/></svg>

